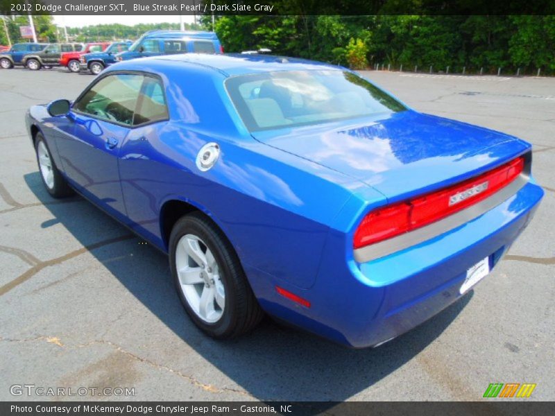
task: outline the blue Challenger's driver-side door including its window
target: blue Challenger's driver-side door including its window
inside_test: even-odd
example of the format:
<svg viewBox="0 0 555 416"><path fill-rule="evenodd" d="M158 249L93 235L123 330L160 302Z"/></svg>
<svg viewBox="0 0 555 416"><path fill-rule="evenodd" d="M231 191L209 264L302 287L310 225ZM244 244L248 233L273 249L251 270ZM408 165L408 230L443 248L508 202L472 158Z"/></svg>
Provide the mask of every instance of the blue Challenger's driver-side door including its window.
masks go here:
<svg viewBox="0 0 555 416"><path fill-rule="evenodd" d="M71 107L73 135L58 140L69 180L121 220L125 220L126 209L119 183L119 150L133 128L143 80L137 73L111 73L100 78Z"/></svg>

